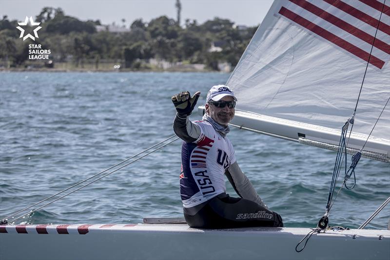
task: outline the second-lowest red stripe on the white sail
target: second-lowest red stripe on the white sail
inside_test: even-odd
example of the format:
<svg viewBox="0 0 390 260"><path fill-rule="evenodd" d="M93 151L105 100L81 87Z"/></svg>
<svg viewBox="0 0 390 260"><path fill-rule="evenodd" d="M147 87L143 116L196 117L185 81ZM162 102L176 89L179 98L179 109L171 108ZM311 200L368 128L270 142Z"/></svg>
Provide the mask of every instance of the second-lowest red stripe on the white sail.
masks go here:
<svg viewBox="0 0 390 260"><path fill-rule="evenodd" d="M390 45L386 42L375 39L370 34L356 28L355 26L349 24L348 22L341 20L334 15L326 12L325 10L322 10L321 8L315 6L314 4L307 2L305 0L290 0L291 2L295 3L296 5L299 5L300 7L308 10L309 12L313 13L314 15L321 17L324 20L329 21L333 25L343 29L346 32L349 32L351 35L359 38L360 40L364 40L365 42L372 45L372 42L374 43L374 46L387 54L390 54Z"/></svg>

